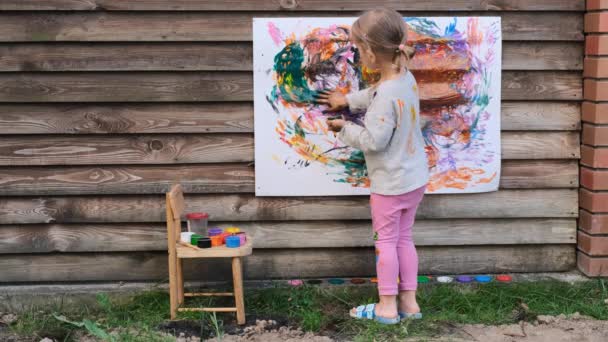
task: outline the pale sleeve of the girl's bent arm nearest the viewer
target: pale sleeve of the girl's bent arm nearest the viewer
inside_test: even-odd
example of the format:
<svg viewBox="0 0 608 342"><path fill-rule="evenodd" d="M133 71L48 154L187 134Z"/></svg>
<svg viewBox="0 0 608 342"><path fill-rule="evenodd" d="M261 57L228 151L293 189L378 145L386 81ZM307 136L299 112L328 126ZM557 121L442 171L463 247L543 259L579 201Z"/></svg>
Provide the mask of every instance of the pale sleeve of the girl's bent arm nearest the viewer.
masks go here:
<svg viewBox="0 0 608 342"><path fill-rule="evenodd" d="M338 138L364 153L384 151L397 126L395 109L391 99L376 99L365 115L365 127L347 123Z"/></svg>

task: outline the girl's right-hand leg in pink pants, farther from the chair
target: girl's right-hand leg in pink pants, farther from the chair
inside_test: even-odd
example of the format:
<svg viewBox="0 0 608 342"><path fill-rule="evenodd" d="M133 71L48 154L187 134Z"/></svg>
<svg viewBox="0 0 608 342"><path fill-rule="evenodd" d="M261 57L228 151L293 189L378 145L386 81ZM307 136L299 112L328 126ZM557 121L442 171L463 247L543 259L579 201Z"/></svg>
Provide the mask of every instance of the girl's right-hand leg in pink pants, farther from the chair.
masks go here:
<svg viewBox="0 0 608 342"><path fill-rule="evenodd" d="M416 217L416 210L425 187L402 195L402 204L405 209L401 211L399 241L397 242L397 255L399 258L399 311L416 313L420 307L416 302L416 288L418 286L418 254L412 236L412 226Z"/></svg>

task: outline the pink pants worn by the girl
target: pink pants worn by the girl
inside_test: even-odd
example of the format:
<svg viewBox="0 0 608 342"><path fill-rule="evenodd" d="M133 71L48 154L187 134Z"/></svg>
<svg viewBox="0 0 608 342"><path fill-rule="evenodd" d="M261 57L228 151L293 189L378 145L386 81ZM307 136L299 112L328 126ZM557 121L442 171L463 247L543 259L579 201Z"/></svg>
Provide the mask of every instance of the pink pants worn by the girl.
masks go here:
<svg viewBox="0 0 608 342"><path fill-rule="evenodd" d="M396 196L371 195L378 292L382 296L416 290L418 254L412 239L412 226L425 189L423 186ZM400 279L398 286L397 277Z"/></svg>

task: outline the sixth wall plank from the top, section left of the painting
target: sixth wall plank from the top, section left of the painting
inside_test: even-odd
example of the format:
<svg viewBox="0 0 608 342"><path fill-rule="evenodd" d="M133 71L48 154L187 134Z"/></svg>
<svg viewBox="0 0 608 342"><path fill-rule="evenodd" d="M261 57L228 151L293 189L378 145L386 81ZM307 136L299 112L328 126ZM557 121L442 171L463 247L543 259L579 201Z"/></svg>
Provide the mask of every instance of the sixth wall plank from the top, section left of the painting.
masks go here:
<svg viewBox="0 0 608 342"><path fill-rule="evenodd" d="M253 160L251 134L13 136L3 139L0 164L185 164Z"/></svg>

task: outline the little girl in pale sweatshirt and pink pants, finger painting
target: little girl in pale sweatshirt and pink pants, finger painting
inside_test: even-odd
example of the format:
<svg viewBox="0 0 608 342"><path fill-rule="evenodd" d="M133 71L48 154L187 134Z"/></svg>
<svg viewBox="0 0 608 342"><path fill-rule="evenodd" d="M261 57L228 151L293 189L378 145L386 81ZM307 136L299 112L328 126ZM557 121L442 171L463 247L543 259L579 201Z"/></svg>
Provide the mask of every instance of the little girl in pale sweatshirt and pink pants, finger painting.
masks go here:
<svg viewBox="0 0 608 342"><path fill-rule="evenodd" d="M418 255L412 225L429 171L418 88L405 67L413 49L406 45L403 18L388 9L365 12L353 24L350 40L363 65L380 72L380 81L346 96L337 91L318 96L318 103L330 111L366 111L363 127L342 119L327 121L342 142L363 151L371 184L380 302L354 308L350 315L395 324L422 317L416 302Z"/></svg>

